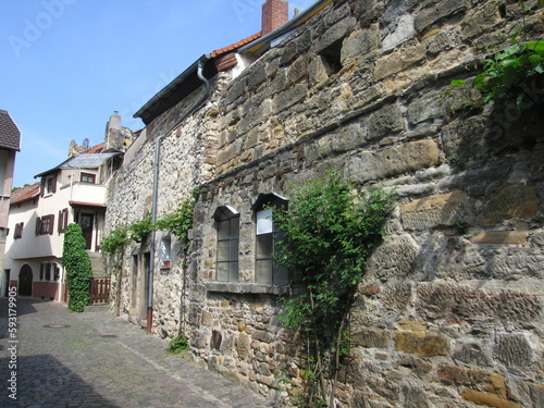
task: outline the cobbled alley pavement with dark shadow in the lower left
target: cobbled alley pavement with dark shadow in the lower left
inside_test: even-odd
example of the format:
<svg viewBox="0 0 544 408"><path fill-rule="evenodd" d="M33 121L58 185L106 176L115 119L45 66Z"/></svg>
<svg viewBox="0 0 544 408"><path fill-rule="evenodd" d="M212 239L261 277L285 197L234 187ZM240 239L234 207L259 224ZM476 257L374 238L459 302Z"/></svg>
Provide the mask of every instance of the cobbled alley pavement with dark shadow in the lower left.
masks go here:
<svg viewBox="0 0 544 408"><path fill-rule="evenodd" d="M109 311L71 313L53 301L17 298L16 333L9 331L8 298L0 312L0 407L273 406L166 354L168 341Z"/></svg>

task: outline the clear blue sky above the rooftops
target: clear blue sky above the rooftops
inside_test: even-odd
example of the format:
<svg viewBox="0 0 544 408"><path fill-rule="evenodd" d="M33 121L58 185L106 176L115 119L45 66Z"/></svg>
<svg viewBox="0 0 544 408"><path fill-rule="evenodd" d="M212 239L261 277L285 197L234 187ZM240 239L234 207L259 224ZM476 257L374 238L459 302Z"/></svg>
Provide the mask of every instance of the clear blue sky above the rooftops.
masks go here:
<svg viewBox="0 0 544 408"><path fill-rule="evenodd" d="M0 109L22 132L13 185L103 141L203 53L260 30L264 0L0 0ZM290 0L305 10L314 0Z"/></svg>

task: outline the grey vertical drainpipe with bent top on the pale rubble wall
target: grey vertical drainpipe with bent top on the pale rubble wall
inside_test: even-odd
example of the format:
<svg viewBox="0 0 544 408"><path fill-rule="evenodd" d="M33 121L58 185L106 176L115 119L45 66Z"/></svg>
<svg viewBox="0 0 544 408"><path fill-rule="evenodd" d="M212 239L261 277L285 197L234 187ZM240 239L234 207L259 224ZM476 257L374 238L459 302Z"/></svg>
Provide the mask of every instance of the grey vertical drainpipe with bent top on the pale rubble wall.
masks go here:
<svg viewBox="0 0 544 408"><path fill-rule="evenodd" d="M161 136L157 138L154 141L154 163L153 163L153 193L151 197L151 223L157 222L157 201L159 196L159 161L161 158L161 140L170 134L181 122L187 119L205 100L207 100L210 96L210 83L203 76L203 67L206 62L210 60L209 55L202 55L198 60L197 75L198 78L205 84L206 91L205 94L194 103L191 104L187 111L185 111L180 119ZM151 326L153 322L153 274L154 274L154 252L156 252L156 231L151 230L151 242L149 249L149 275L148 275L148 297L147 297L147 333L151 333Z"/></svg>

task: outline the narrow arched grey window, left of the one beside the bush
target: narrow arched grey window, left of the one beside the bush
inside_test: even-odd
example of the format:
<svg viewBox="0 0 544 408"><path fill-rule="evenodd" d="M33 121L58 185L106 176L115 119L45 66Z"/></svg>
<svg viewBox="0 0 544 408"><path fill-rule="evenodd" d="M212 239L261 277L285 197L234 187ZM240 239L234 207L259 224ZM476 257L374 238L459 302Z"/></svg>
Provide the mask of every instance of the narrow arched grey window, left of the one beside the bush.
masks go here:
<svg viewBox="0 0 544 408"><path fill-rule="evenodd" d="M217 280L238 281L239 213L228 206L221 206L213 214L218 223Z"/></svg>

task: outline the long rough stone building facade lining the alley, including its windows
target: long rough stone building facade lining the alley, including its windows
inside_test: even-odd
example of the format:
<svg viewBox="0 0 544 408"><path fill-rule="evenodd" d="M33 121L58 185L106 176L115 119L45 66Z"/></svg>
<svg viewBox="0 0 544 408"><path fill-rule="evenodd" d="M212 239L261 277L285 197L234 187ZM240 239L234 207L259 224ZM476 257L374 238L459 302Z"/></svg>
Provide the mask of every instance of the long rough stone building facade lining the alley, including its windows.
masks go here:
<svg viewBox="0 0 544 408"><path fill-rule="evenodd" d="M277 319L290 276L268 205L336 170L398 197L350 311L337 406L542 405L542 104L482 107L470 86L520 28L540 38L542 9L318 1L205 54L136 113L146 128L107 199L112 231L197 197L188 254L168 231L125 246L115 311L296 398L304 342Z"/></svg>

